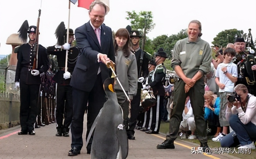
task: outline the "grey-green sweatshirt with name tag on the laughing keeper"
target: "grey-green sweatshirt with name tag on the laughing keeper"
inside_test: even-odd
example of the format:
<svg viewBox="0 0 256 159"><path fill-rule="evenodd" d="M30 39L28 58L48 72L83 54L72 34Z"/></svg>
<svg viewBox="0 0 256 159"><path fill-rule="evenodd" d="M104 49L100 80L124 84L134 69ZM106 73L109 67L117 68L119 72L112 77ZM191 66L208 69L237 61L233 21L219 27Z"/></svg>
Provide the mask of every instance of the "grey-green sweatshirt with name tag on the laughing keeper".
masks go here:
<svg viewBox="0 0 256 159"><path fill-rule="evenodd" d="M199 70L206 74L211 68L211 48L208 42L198 37L196 42L189 38L177 41L173 49L171 67L180 65L187 78L192 78ZM180 78L177 74L176 77Z"/></svg>

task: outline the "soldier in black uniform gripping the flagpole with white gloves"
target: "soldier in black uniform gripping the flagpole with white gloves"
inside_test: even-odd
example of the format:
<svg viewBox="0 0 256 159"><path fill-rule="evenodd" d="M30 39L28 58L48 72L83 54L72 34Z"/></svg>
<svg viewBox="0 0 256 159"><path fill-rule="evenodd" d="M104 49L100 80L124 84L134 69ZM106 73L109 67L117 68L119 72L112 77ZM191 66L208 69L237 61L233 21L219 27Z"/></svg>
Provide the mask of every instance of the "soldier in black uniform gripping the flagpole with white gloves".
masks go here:
<svg viewBox="0 0 256 159"><path fill-rule="evenodd" d="M69 29L69 38L67 39L67 29L65 29L64 22L56 29L55 35L58 42L55 46L49 46L47 53L51 55L57 55L59 71L53 77L53 80L57 83L57 106L56 106L56 136L69 137L70 124L73 117L73 96L72 87L70 86L71 76L76 65L76 60L79 54L79 50L72 44L74 40L74 32ZM67 72L65 72L65 60L67 55ZM64 114L64 124L63 124Z"/></svg>

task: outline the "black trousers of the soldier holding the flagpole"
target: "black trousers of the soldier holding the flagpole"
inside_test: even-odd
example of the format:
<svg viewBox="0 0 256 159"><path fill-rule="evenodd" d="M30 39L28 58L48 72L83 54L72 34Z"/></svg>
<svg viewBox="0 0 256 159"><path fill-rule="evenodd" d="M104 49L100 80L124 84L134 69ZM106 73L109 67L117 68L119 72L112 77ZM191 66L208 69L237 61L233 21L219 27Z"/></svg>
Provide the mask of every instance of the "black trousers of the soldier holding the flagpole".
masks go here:
<svg viewBox="0 0 256 159"><path fill-rule="evenodd" d="M65 112L65 113L64 113ZM63 124L64 114L64 124ZM69 126L73 116L72 87L70 85L57 85L57 107L56 123L57 129L65 128L69 131Z"/></svg>

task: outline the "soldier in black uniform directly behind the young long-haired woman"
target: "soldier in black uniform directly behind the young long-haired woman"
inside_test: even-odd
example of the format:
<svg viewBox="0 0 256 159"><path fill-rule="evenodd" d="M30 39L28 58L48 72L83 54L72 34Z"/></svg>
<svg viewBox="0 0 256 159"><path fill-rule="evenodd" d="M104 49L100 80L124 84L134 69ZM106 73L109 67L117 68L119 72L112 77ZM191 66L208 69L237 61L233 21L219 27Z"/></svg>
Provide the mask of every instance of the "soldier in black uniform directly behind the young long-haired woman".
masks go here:
<svg viewBox="0 0 256 159"><path fill-rule="evenodd" d="M137 30L131 30L130 26L127 26L126 29L130 33L131 39L131 52L135 54L136 61L137 61L137 70L138 70L138 89L137 94L133 97L131 101L131 117L129 122L129 128L127 130L128 139L135 140L134 137L134 129L137 124L137 118L140 112L140 96L141 96L141 89L142 83L144 82L145 78L148 76L148 59L150 59L150 55L147 52L142 52L142 49L139 47L139 40L142 36L139 34ZM143 53L143 60L141 61L141 54Z"/></svg>

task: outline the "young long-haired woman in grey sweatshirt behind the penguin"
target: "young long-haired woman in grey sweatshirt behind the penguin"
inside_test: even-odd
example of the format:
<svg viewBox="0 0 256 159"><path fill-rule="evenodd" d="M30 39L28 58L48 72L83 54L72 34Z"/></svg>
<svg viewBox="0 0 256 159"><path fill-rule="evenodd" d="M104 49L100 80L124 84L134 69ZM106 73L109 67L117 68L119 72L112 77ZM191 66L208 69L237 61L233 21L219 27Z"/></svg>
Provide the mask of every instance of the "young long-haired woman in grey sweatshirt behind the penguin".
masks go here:
<svg viewBox="0 0 256 159"><path fill-rule="evenodd" d="M135 55L130 51L130 36L126 29L118 29L115 34L116 73L130 101L137 93L138 71ZM114 86L117 101L123 109L124 127L128 126L129 100L126 98L120 84Z"/></svg>

